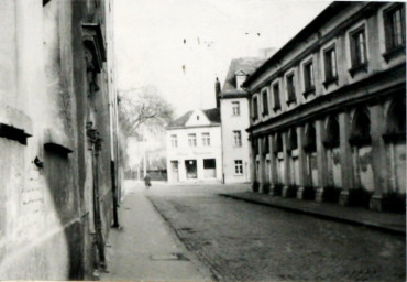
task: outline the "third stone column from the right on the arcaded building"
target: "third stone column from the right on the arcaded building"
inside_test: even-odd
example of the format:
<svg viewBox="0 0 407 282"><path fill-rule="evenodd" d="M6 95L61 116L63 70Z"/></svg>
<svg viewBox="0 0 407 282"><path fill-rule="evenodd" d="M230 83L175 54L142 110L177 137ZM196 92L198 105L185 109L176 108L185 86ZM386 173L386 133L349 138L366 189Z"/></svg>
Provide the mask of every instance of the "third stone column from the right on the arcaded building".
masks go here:
<svg viewBox="0 0 407 282"><path fill-rule="evenodd" d="M318 165L318 189L316 200L322 202L323 188L327 186L327 150L322 143L324 138L323 120L316 120L317 133L317 165Z"/></svg>

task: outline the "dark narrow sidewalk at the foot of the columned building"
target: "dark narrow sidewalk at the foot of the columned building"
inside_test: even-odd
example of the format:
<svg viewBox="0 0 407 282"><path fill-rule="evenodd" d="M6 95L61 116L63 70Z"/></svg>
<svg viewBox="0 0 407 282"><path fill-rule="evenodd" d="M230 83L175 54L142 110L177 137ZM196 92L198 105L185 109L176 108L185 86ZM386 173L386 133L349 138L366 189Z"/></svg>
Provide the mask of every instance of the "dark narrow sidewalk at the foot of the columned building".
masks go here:
<svg viewBox="0 0 407 282"><path fill-rule="evenodd" d="M406 215L404 214L380 213L360 207L342 207L333 203L282 198L278 196L253 192L222 193L219 195L254 204L283 208L295 213L302 213L329 220L362 225L381 229L383 231L406 235Z"/></svg>

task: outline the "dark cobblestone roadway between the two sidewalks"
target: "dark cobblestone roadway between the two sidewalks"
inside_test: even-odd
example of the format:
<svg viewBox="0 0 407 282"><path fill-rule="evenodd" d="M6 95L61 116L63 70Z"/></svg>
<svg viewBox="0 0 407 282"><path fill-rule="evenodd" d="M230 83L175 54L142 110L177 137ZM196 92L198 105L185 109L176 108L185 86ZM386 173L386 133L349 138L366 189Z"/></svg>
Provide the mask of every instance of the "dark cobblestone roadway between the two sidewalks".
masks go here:
<svg viewBox="0 0 407 282"><path fill-rule="evenodd" d="M404 236L220 197L243 185L154 185L156 210L218 281L405 281Z"/></svg>

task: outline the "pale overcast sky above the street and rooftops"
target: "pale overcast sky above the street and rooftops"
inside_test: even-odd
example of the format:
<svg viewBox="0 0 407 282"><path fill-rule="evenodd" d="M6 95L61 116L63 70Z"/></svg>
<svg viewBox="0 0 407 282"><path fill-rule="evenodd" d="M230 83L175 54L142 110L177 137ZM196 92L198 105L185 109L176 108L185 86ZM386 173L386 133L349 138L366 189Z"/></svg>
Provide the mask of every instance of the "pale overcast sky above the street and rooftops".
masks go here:
<svg viewBox="0 0 407 282"><path fill-rule="evenodd" d="M232 58L282 47L329 3L117 0L118 88L155 85L177 116L215 107L215 78L223 85Z"/></svg>

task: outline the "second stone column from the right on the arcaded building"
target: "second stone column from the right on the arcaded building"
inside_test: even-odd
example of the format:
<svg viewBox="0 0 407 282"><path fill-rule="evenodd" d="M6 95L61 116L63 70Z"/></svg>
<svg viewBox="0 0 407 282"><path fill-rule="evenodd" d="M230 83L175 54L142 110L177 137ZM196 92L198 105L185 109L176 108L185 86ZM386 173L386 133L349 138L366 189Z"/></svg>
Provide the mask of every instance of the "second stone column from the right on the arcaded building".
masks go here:
<svg viewBox="0 0 407 282"><path fill-rule="evenodd" d="M339 204L342 206L348 205L349 189L353 188L352 147L349 143L350 132L351 124L349 113L339 113L339 147L342 174L342 191L339 197Z"/></svg>

